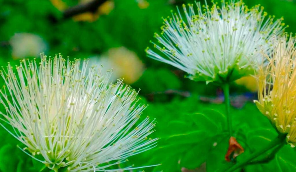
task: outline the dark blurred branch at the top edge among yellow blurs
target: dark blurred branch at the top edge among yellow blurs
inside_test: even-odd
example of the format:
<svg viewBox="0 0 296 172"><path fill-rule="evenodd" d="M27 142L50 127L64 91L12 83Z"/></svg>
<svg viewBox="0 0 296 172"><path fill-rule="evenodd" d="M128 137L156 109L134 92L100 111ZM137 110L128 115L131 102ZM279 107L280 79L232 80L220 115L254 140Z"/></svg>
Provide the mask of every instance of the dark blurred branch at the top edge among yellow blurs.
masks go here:
<svg viewBox="0 0 296 172"><path fill-rule="evenodd" d="M66 9L63 13L64 18L69 18L84 12L96 12L98 7L107 0L93 0L86 4L78 4L76 6Z"/></svg>

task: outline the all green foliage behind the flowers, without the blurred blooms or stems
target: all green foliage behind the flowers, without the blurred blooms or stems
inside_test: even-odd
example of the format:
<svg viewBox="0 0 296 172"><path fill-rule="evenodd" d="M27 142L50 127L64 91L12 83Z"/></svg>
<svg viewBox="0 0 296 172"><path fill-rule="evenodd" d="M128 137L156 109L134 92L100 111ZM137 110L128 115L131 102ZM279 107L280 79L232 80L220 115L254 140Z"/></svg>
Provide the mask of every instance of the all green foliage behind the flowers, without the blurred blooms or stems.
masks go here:
<svg viewBox="0 0 296 172"><path fill-rule="evenodd" d="M65 2L74 6L78 0ZM112 47L125 46L135 51L147 67L133 87L141 89L142 102L149 104L143 116L156 118L158 123L152 136L160 138L156 148L129 158L130 163L135 166L162 164L143 169L145 171L174 172L181 171L182 167L196 169L204 163L209 172L227 169L233 164L224 160L228 148L224 105L203 103L196 95L216 96L217 86L183 78L185 73L180 74L176 68L147 58L144 52L150 46L153 33L160 31L161 17L170 15L171 9L176 11L175 6L184 1L177 0L176 4L170 4L168 0L148 2L147 9L140 9L137 1L115 0L115 8L109 15L102 15L95 22L75 22L73 19L62 19L62 12L49 0L0 0L0 64L6 66L8 61L12 65L18 63L18 60L12 60L9 40L15 33L21 32L41 36L49 45L47 54L62 53L71 59L89 58ZM194 3L193 0L186 1L191 2ZM268 14L284 17L285 23L290 26L287 32L296 31L295 3L280 0L244 2L248 6L260 3ZM3 84L1 79L0 86ZM168 90L186 91L190 96L184 98L178 94L166 94ZM239 88L232 86L231 90L234 93ZM150 99L151 95L153 99ZM237 161L276 137L274 128L255 104L247 103L242 109L232 108L231 113L235 136L245 149ZM2 128L0 135L1 171L48 171L42 163L18 149L18 144L22 147L20 142ZM285 145L269 163L250 165L244 171L296 171L295 151Z"/></svg>

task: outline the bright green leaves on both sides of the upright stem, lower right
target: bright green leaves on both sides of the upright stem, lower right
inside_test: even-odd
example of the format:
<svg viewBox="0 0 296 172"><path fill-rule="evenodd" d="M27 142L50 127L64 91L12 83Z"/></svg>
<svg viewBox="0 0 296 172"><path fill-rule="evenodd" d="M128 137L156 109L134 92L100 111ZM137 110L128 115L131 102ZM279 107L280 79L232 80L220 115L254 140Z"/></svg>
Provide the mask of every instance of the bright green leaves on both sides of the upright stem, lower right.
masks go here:
<svg viewBox="0 0 296 172"><path fill-rule="evenodd" d="M237 161L248 157L277 136L276 130L255 104L243 109L231 109L234 117L235 136L245 152ZM206 163L207 171L228 169L233 163L224 157L228 149L228 132L223 104L205 104L197 96L173 99L168 103L150 103L145 115L157 119L154 137L160 137L158 146L129 158L136 165L159 164L145 171L181 171L199 168ZM165 125L166 124L166 125ZM270 152L268 152L270 153ZM264 158L266 154L261 155ZM293 169L296 152L286 145L276 158L267 164L250 165L245 171L285 171ZM143 169L144 170L144 169Z"/></svg>

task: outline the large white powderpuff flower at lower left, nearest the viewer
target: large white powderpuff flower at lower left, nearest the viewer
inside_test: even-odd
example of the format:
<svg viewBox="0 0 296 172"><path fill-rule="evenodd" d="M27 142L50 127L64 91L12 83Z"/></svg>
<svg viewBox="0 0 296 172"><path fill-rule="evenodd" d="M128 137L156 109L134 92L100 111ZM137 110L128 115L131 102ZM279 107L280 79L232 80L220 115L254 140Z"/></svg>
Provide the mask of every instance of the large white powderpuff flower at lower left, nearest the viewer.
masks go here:
<svg viewBox="0 0 296 172"><path fill-rule="evenodd" d="M122 80L109 83L110 72L102 76L87 63L41 55L39 64L21 60L16 70L8 64L1 71L6 111L0 114L12 129L0 125L25 145L25 153L54 171L116 171L108 167L157 143L149 138L154 121L137 123L145 109L137 92Z"/></svg>

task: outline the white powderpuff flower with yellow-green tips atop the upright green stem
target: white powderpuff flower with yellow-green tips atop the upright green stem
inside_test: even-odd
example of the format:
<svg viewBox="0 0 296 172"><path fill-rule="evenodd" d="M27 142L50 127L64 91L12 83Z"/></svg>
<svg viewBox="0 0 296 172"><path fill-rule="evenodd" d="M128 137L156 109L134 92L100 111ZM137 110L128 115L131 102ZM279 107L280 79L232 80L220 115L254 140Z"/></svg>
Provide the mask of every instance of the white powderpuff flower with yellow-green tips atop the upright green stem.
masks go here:
<svg viewBox="0 0 296 172"><path fill-rule="evenodd" d="M205 1L206 2L206 1ZM161 35L155 33L150 58L173 65L192 80L225 83L253 73L251 65L262 63L260 53L270 52L271 37L284 31L283 20L266 18L260 5L248 9L242 1L221 1L201 7L183 5L184 14L164 18ZM185 19L183 19L185 18Z"/></svg>

